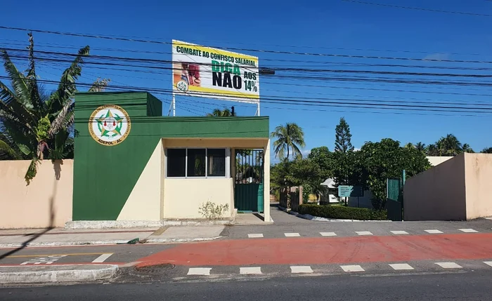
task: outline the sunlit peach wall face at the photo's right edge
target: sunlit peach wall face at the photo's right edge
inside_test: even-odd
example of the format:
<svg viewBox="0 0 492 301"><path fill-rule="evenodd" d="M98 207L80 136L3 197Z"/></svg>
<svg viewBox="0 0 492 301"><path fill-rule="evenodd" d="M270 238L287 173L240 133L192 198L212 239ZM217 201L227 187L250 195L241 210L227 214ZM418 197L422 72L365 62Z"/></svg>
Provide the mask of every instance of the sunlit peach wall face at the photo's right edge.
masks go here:
<svg viewBox="0 0 492 301"><path fill-rule="evenodd" d="M492 154L465 154L467 219L492 216Z"/></svg>

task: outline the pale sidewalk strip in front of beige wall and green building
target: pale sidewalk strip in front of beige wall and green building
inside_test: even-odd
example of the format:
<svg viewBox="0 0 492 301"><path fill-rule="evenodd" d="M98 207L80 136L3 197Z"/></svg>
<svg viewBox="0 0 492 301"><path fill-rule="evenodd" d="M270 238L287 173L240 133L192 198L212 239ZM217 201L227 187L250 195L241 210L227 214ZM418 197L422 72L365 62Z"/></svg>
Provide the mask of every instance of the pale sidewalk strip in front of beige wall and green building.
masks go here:
<svg viewBox="0 0 492 301"><path fill-rule="evenodd" d="M74 246L115 243L167 243L219 239L224 226L132 229L13 229L0 230L0 248ZM26 244L26 245L25 245Z"/></svg>

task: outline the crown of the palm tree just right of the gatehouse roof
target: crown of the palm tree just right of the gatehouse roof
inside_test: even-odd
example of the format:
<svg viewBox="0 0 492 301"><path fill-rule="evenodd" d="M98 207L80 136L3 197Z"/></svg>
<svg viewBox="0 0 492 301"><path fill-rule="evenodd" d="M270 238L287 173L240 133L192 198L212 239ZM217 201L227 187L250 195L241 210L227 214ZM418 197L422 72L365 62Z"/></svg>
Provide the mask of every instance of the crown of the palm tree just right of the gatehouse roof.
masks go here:
<svg viewBox="0 0 492 301"><path fill-rule="evenodd" d="M277 138L273 142L275 156L279 159L289 159L290 151L297 157L302 157L299 147L305 147L304 132L297 123L285 123L285 126L277 126L271 133L271 138ZM287 156L285 156L287 153Z"/></svg>

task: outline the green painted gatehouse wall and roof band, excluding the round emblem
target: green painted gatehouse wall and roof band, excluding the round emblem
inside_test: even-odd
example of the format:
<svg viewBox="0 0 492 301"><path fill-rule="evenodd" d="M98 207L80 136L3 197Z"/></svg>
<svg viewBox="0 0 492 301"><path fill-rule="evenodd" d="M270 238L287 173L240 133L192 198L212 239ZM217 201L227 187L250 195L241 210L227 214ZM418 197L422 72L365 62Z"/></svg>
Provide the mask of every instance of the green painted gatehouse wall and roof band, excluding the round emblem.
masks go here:
<svg viewBox="0 0 492 301"><path fill-rule="evenodd" d="M101 105L127 111L131 131L119 145L89 135ZM268 117L164 117L149 93L78 93L75 97L73 220L116 220L160 138L268 138Z"/></svg>

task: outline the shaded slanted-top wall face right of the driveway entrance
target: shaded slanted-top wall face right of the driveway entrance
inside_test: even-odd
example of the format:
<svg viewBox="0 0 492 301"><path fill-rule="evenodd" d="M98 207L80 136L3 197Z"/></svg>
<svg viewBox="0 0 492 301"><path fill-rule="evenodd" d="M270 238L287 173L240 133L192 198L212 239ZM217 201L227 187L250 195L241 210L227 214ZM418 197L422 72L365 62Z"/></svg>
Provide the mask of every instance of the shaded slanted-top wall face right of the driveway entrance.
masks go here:
<svg viewBox="0 0 492 301"><path fill-rule="evenodd" d="M403 201L404 220L465 220L465 156L406 180Z"/></svg>

